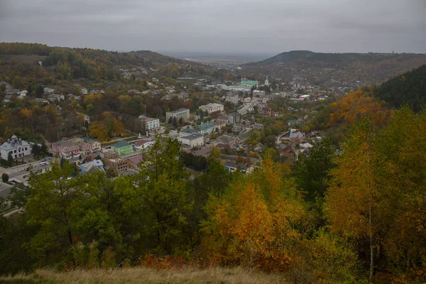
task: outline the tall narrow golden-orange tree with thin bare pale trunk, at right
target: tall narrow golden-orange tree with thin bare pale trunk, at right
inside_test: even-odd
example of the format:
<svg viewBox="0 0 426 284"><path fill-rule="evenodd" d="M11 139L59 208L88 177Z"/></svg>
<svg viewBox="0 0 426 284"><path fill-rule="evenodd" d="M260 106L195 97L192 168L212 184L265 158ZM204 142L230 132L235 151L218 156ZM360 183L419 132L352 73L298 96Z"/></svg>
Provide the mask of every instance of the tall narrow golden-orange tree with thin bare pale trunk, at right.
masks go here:
<svg viewBox="0 0 426 284"><path fill-rule="evenodd" d="M346 239L368 241L370 278L374 273L379 227L375 140L371 119L363 119L351 129L344 141L344 153L336 159L337 168L330 172L325 203L332 232Z"/></svg>

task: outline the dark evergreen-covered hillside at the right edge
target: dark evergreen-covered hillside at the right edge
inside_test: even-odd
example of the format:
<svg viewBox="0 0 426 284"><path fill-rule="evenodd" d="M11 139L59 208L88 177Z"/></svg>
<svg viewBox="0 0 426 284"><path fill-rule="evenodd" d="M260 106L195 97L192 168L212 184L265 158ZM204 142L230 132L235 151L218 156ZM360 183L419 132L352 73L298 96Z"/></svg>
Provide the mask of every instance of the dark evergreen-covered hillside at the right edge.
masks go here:
<svg viewBox="0 0 426 284"><path fill-rule="evenodd" d="M421 111L426 106L426 65L384 82L374 95L391 107L408 104L415 111Z"/></svg>

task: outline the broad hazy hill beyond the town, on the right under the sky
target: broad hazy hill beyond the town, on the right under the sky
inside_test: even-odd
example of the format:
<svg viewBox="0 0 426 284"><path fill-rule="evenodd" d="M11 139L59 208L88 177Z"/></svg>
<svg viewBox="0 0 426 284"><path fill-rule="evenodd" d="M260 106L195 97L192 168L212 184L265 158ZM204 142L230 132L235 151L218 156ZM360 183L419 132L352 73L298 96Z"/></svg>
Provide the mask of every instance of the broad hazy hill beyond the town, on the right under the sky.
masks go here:
<svg viewBox="0 0 426 284"><path fill-rule="evenodd" d="M293 50L266 60L241 65L245 77L266 75L284 80L303 78L327 87L359 87L385 80L426 64L425 54L314 53Z"/></svg>

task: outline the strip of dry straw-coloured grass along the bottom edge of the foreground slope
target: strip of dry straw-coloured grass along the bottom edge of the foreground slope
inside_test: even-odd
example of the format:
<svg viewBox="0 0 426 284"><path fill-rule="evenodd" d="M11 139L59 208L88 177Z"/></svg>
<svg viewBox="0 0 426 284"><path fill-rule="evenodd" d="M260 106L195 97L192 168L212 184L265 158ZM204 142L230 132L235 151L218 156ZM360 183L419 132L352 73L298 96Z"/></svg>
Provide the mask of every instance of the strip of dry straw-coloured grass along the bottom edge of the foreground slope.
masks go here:
<svg viewBox="0 0 426 284"><path fill-rule="evenodd" d="M72 271L59 273L38 270L31 275L0 278L2 283L80 283L80 284L136 284L136 283L285 283L282 275L246 271L241 268L185 268L162 270L153 268L124 268L115 270Z"/></svg>

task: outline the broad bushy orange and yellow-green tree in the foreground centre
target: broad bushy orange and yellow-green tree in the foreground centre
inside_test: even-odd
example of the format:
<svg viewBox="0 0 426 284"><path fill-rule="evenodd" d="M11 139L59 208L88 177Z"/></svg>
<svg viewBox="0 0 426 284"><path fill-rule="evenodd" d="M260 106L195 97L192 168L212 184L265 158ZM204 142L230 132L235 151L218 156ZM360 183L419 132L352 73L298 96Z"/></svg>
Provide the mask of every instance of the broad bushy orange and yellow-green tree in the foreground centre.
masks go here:
<svg viewBox="0 0 426 284"><path fill-rule="evenodd" d="M305 209L293 180L270 158L253 174L236 178L222 197L212 197L207 210L203 231L214 240L213 256L230 265L288 269Z"/></svg>

